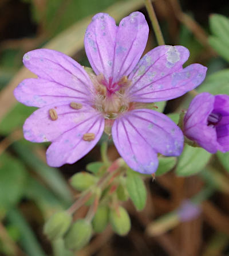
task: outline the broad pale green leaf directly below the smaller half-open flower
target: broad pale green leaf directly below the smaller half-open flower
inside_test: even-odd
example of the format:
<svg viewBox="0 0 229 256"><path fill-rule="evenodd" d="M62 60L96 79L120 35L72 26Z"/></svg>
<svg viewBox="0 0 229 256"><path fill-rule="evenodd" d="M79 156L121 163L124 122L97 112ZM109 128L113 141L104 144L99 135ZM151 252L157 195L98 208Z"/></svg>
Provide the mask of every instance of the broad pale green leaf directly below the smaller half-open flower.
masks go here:
<svg viewBox="0 0 229 256"><path fill-rule="evenodd" d="M178 176L190 176L200 172L207 165L211 154L202 148L185 145L176 168Z"/></svg>

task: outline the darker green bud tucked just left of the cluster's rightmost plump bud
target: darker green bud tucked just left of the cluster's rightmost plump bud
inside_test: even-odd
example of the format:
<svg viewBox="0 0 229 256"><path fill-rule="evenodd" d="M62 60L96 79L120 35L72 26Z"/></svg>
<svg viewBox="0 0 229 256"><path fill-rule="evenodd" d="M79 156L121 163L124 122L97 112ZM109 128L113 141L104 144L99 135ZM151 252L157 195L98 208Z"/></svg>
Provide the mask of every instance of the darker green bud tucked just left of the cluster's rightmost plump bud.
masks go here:
<svg viewBox="0 0 229 256"><path fill-rule="evenodd" d="M109 208L106 205L100 205L92 220L94 232L101 233L108 224Z"/></svg>

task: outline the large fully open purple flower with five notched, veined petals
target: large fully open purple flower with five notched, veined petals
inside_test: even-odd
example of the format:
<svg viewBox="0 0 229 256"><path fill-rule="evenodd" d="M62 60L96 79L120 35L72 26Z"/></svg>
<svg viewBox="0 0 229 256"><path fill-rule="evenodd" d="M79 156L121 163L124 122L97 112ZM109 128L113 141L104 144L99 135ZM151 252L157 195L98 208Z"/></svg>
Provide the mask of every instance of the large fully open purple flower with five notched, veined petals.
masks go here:
<svg viewBox="0 0 229 256"><path fill-rule="evenodd" d="M40 107L25 122L25 138L51 141L51 166L72 164L85 156L110 128L120 155L137 172L153 173L157 153L178 156L183 134L164 114L147 103L179 97L202 83L206 67L186 68L183 46L159 46L140 61L148 38L144 15L121 20L96 14L85 33L86 55L94 73L70 57L49 49L26 53L23 63L38 79L26 79L14 95L23 104Z"/></svg>

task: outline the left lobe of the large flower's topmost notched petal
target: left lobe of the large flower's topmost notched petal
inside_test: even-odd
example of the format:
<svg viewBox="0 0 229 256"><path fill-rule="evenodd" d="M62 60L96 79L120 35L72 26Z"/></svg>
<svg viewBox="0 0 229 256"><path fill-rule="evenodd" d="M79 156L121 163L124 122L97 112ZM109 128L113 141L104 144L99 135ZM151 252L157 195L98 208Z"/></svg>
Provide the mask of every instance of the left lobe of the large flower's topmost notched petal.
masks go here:
<svg viewBox="0 0 229 256"><path fill-rule="evenodd" d="M98 13L92 18L84 37L90 65L97 75L103 73L106 80L112 73L116 32L115 20L106 13Z"/></svg>

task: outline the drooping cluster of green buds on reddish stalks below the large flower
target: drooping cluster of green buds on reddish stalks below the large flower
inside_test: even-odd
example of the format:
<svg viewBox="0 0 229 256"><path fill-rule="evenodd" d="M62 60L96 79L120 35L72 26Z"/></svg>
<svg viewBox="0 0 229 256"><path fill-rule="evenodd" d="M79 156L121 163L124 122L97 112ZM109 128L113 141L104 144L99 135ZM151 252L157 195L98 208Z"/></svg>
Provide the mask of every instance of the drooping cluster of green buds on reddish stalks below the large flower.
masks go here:
<svg viewBox="0 0 229 256"><path fill-rule="evenodd" d="M80 250L92 237L110 223L118 235L127 235L131 228L128 212L121 206L129 199L126 183L128 166L122 158L112 164L96 162L89 165L92 172L76 173L70 185L80 192L78 199L66 211L51 216L45 223L44 233L51 240L64 239L69 250ZM88 206L84 219L74 220L74 212Z"/></svg>

